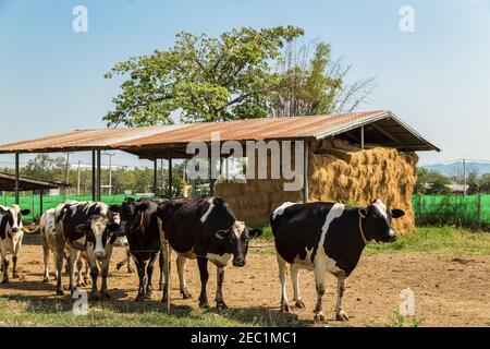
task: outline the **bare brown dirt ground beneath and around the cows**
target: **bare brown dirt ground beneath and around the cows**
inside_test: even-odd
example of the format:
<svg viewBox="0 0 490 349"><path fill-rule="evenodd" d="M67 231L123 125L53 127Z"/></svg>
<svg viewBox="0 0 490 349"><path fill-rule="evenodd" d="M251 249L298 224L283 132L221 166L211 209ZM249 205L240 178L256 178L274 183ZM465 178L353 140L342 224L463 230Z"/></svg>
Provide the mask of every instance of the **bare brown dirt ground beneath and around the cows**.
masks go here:
<svg viewBox="0 0 490 349"><path fill-rule="evenodd" d="M28 298L54 297L54 280L42 284L42 249L39 237L28 236L21 252L19 265L21 279L0 285L0 297L22 294ZM261 251L261 252L260 252ZM109 292L111 302L132 301L136 297L137 276L127 274L125 267L115 270L117 262L124 255L122 248L114 250L111 261ZM175 257L175 256L174 256ZM53 269L52 263L50 264ZM199 275L197 263L188 261L187 287L193 299L183 300L179 292L175 264L172 263L171 304L197 308ZM216 268L210 265L208 298L215 306ZM347 279L344 309L350 316L346 323L334 321L336 281L327 278L324 294L326 322L323 326L379 326L390 323L390 315L399 309L400 292L409 287L415 293L416 318L420 326L490 326L490 256L454 258L428 253L364 254L357 268ZM158 263L154 275L152 300L161 298L158 291ZM68 277L63 279L68 284ZM292 285L287 280L289 298ZM275 256L271 252L250 249L247 265L228 267L224 279L224 300L237 312L257 314L258 317L278 318L278 324L314 325L313 309L316 301L314 276L304 270L301 289L306 309L292 308L292 315L279 313L280 285ZM70 296L65 296L66 298ZM290 301L290 304L294 302ZM270 323L270 322L269 322Z"/></svg>

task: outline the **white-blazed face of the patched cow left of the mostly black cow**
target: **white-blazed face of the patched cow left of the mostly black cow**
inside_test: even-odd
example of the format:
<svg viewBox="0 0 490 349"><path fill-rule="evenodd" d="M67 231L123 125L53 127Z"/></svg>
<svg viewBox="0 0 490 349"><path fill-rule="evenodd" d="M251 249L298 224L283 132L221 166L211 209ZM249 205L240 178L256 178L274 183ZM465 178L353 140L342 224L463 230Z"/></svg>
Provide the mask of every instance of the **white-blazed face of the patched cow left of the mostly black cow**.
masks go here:
<svg viewBox="0 0 490 349"><path fill-rule="evenodd" d="M85 224L76 226L76 231L91 236L95 241L94 254L96 258L106 257L106 245L114 243L120 236L119 214L100 214L90 216Z"/></svg>

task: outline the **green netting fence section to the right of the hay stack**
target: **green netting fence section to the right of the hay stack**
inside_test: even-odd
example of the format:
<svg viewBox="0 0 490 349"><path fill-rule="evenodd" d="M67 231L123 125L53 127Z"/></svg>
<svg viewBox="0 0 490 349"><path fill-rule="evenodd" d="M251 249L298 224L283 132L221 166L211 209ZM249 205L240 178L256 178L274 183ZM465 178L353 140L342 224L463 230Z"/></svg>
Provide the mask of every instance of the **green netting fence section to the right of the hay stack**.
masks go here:
<svg viewBox="0 0 490 349"><path fill-rule="evenodd" d="M412 206L417 225L490 227L490 194L414 195Z"/></svg>

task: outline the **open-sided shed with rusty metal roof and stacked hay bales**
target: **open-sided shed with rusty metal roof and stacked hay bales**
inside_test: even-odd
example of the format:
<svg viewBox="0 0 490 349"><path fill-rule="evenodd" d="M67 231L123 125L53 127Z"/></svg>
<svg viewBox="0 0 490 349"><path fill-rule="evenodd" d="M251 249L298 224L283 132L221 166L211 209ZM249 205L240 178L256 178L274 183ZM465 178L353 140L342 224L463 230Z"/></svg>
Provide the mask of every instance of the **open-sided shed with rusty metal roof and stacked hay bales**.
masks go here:
<svg viewBox="0 0 490 349"><path fill-rule="evenodd" d="M393 112L378 110L127 129L76 130L0 145L0 154L15 155L19 173L19 159L22 154L91 152L95 184L93 198L100 200L100 152L122 151L137 155L142 159L152 160L154 192L158 193L157 160L168 160L170 169L168 185L171 186L172 160L193 157L194 154L187 152L189 143L201 142L211 148L216 134L219 134L220 144L226 141L242 145L249 141L275 141L281 145L286 142L304 144L301 190L284 191L283 184L287 180L283 177L279 179L255 177L242 182L210 180L210 193L223 196L240 219L255 225L267 221L270 210L284 201L338 201L365 205L380 197L389 206L396 206L407 213L403 219L397 220L395 228L402 233L411 232L414 229L411 203L416 181L416 152L440 152ZM298 163L297 155L294 154L296 153L292 156L293 164ZM226 157L230 154L220 151L219 156ZM274 154L268 153L266 166L269 169L273 160ZM20 188L16 188L17 200L19 190Z"/></svg>

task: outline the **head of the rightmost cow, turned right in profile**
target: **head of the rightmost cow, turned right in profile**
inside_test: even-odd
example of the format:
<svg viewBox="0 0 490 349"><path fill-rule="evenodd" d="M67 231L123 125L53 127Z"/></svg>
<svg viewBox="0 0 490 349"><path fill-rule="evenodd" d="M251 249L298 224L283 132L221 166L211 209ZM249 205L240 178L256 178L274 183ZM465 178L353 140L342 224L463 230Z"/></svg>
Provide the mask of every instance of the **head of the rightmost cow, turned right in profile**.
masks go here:
<svg viewBox="0 0 490 349"><path fill-rule="evenodd" d="M368 207L360 208L360 214L365 217L364 234L367 240L393 242L396 234L391 228L391 219L403 217L405 212L397 208L390 209L377 198Z"/></svg>

